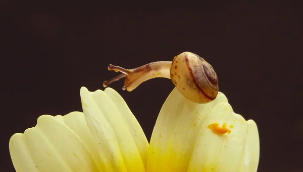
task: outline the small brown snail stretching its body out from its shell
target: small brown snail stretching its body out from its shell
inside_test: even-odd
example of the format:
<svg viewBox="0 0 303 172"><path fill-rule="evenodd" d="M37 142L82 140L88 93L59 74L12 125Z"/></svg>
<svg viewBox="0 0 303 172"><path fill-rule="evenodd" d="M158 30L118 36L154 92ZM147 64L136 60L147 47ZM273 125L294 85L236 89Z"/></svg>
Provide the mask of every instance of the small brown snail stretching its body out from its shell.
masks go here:
<svg viewBox="0 0 303 172"><path fill-rule="evenodd" d="M134 69L108 65L109 70L122 74L103 82L104 87L125 77L123 90L133 91L142 82L155 78L170 78L179 92L194 103L213 101L219 91L217 74L207 61L191 52L183 52L173 61L151 62Z"/></svg>

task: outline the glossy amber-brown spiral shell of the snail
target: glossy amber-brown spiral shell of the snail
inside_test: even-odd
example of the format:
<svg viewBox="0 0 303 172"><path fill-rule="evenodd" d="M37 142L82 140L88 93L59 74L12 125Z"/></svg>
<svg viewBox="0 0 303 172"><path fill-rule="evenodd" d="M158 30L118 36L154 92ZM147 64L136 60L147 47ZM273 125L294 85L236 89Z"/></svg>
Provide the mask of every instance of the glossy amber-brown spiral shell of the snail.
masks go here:
<svg viewBox="0 0 303 172"><path fill-rule="evenodd" d="M171 65L170 77L179 92L192 102L208 103L218 95L218 77L214 68L194 53L177 55Z"/></svg>

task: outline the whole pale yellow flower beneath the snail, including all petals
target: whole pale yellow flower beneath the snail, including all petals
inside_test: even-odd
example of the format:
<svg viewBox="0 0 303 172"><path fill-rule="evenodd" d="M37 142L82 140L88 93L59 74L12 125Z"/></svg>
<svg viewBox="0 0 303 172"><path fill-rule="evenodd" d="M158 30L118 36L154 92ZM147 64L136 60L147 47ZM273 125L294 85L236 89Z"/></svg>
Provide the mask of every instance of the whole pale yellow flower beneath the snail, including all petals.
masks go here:
<svg viewBox="0 0 303 172"><path fill-rule="evenodd" d="M195 104L175 89L149 145L116 91L81 88L80 96L83 113L42 115L11 137L16 171L257 171L257 125L235 114L222 93Z"/></svg>

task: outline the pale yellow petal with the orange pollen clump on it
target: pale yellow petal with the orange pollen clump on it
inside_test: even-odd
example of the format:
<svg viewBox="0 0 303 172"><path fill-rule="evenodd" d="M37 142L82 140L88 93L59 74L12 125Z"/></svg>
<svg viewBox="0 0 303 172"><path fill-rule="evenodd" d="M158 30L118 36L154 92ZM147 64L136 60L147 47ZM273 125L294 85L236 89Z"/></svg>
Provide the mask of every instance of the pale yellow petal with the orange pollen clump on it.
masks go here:
<svg viewBox="0 0 303 172"><path fill-rule="evenodd" d="M196 137L188 171L239 171L246 146L247 123L241 116L234 116L227 103L218 104L209 117ZM230 134L218 135L208 128L215 122L234 127Z"/></svg>

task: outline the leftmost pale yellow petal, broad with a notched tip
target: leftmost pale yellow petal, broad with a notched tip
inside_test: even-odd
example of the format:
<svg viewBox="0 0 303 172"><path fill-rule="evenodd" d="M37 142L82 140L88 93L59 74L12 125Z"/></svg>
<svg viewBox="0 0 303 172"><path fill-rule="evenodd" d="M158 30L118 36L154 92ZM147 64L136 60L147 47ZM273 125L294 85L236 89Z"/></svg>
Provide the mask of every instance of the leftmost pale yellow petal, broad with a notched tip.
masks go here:
<svg viewBox="0 0 303 172"><path fill-rule="evenodd" d="M82 140L49 115L40 116L24 134L13 135L10 152L17 171L99 171Z"/></svg>

